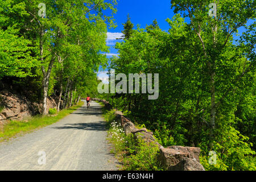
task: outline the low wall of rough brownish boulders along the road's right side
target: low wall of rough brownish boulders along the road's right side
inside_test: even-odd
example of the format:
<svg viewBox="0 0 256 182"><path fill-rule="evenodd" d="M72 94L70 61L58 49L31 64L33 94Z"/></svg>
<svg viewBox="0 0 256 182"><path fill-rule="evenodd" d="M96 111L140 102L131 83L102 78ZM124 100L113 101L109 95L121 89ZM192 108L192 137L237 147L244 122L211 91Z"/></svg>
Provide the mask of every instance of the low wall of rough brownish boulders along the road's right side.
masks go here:
<svg viewBox="0 0 256 182"><path fill-rule="evenodd" d="M107 107L112 106L106 100L93 98L94 101L104 103ZM126 134L133 134L135 138L142 138L145 142L154 142L159 147L158 160L170 171L204 171L200 164L199 147L170 146L164 148L153 137L153 133L146 128L138 129L129 118L126 118L121 111L115 111L116 120L121 123Z"/></svg>

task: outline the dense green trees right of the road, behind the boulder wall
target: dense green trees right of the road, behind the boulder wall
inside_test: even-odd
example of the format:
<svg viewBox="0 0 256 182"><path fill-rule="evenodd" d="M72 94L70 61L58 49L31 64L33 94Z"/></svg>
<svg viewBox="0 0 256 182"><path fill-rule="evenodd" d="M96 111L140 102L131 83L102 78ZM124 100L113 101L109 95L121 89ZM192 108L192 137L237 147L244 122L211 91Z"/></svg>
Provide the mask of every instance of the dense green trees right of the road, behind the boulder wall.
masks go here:
<svg viewBox="0 0 256 182"><path fill-rule="evenodd" d="M171 1L176 15L166 20L168 33L154 21L117 43L115 74L159 73L159 98L121 93L108 100L129 110L163 146L200 147L209 170L254 170L248 159L255 155L255 23L245 26L237 44L233 34L255 19L255 5L220 1L212 18L209 3ZM208 163L213 150L215 166Z"/></svg>

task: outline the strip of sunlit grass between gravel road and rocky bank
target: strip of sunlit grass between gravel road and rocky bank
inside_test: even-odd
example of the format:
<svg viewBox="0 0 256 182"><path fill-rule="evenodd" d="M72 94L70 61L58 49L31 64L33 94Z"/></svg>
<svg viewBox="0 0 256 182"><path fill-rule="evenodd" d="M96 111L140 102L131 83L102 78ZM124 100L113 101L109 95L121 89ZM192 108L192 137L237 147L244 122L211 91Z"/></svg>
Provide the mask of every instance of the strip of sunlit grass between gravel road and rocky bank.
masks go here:
<svg viewBox="0 0 256 182"><path fill-rule="evenodd" d="M22 136L23 134L30 133L36 129L40 129L48 125L52 125L65 116L73 113L73 111L77 110L82 105L84 105L84 102L80 101L78 105L72 106L69 109L61 110L57 115L54 116L38 115L29 118L27 121L10 121L4 125L2 131L0 131L0 142Z"/></svg>

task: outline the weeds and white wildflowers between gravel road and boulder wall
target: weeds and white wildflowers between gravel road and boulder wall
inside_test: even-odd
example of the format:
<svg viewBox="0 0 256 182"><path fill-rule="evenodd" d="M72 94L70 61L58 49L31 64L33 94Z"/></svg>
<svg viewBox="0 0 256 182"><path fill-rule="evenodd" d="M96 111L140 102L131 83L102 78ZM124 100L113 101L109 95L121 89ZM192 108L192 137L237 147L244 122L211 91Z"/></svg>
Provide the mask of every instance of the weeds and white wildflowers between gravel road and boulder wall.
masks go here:
<svg viewBox="0 0 256 182"><path fill-rule="evenodd" d="M133 134L126 135L122 126L115 121L114 110L104 110L108 126L108 140L112 143L111 152L119 162L120 170L127 171L160 171L163 167L157 160L158 146L154 143L135 139Z"/></svg>

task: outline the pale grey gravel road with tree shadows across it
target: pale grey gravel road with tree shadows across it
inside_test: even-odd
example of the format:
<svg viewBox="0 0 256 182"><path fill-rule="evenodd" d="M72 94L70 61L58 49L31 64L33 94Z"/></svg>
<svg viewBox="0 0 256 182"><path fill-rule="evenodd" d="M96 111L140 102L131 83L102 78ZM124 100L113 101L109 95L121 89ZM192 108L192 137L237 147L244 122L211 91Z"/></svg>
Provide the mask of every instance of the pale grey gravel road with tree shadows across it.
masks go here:
<svg viewBox="0 0 256 182"><path fill-rule="evenodd" d="M92 102L53 125L0 143L0 170L113 171L101 106ZM45 157L44 157L45 156Z"/></svg>

